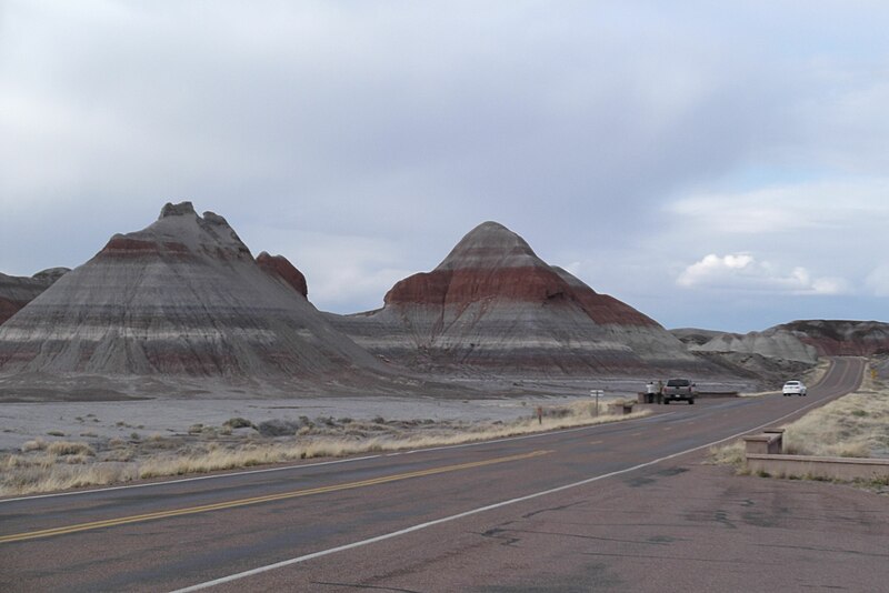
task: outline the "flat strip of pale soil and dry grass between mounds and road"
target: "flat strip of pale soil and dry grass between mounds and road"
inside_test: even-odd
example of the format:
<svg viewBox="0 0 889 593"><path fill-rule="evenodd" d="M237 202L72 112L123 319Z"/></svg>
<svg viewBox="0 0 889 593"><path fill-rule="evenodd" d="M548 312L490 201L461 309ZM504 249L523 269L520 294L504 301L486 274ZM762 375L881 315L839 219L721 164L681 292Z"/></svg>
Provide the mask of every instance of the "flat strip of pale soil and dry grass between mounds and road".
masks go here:
<svg viewBox="0 0 889 593"><path fill-rule="evenodd" d="M10 404L0 495L457 444L639 418L621 400L313 399ZM538 415L539 410L539 415ZM618 415L620 413L620 415Z"/></svg>

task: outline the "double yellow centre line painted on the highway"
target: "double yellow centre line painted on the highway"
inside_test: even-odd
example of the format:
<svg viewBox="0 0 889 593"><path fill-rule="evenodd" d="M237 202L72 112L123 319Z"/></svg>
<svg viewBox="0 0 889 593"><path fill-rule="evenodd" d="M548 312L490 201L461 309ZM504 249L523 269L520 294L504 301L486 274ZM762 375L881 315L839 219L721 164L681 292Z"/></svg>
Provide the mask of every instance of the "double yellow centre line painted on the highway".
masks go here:
<svg viewBox="0 0 889 593"><path fill-rule="evenodd" d="M221 511L223 509L234 509L238 506L248 506L250 504L261 504L264 502L283 501L288 499L297 499L300 496L311 496L312 494L324 494L328 492L339 492L342 490L353 490L357 488L372 486L377 484L386 484L389 482L399 482L401 480L410 480L411 478L422 478L426 475L436 475L440 473L457 472L461 470L470 470L473 468L483 468L486 465L495 465L498 463L509 463L511 461L521 461L540 455L548 455L553 451L532 451L530 453L522 453L519 455L509 455L506 458L495 458L485 461L475 461L471 463L460 463L457 465L443 465L441 468L431 468L429 470L418 470L416 472L400 473L394 475L386 475L382 478L373 478L370 480L362 480L360 482L348 482L346 484L333 484L329 486L310 488L306 490L294 490L291 492L281 492L279 494L268 494L266 496L253 496L250 499L239 499L234 501L218 502L213 504L203 504L200 506L188 506L184 509L173 509L171 511L158 511L154 513L144 513L141 515L121 516L118 519L106 519L103 521L91 521L89 523L78 523L76 525L67 525L62 527L52 527L48 530L30 531L26 533L16 533L12 535L0 535L0 544L22 542L26 540L37 540L39 537L52 537L53 535L64 535L68 533L77 533L80 531L98 530L103 527L113 527L117 525L126 525L128 523L141 523L142 521L153 521L156 519L168 519L173 516L191 515L197 513L207 513L210 511Z"/></svg>

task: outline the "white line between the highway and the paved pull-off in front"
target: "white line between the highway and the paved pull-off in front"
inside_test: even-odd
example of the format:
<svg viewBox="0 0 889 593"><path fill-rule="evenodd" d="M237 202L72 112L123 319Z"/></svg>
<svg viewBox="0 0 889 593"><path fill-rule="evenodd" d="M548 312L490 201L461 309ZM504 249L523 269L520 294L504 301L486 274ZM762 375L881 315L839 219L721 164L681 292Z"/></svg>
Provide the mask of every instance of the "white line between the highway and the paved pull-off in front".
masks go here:
<svg viewBox="0 0 889 593"><path fill-rule="evenodd" d="M719 443L725 443L726 441L731 441L732 439L737 439L737 438L742 436L742 435L745 435L747 433L750 433L750 432L753 432L753 431L758 431L758 430L763 429L763 428L766 428L766 426L768 426L770 424L775 424L776 422L781 422L782 420L785 420L785 419L787 419L789 416L792 416L793 414L799 413L801 410L807 410L808 408L817 405L818 403L821 403L821 401L819 400L819 401L812 402L812 403L810 403L810 404L808 404L808 405L806 405L803 408L798 408L797 410L793 410L792 412L790 412L788 414L785 414L785 415L782 415L780 418L773 419L773 420L771 420L769 422L766 422L765 424L760 424L759 426L755 426L752 429L749 429L749 430L732 434L731 436L726 436L725 439L720 439L720 440L713 441L711 443L698 445L698 446L695 446L695 448L691 448L691 449L687 449L685 451L679 451L677 453L672 453L670 455L667 455L667 456L663 456L663 458L659 458L659 459L656 459L656 460L652 460L652 461L647 461L646 463L640 463L638 465L633 465L632 468L626 468L623 470L617 470L617 471L605 473L605 474L601 474L601 475L596 475L593 478L588 478L586 480L581 480L580 482L573 482L571 484L565 484L565 485L557 486L557 488L553 488L553 489L550 489L550 490L545 490L542 492L535 492L533 494L527 494L525 496L519 496L518 499L510 499L508 501L496 502L493 504L489 504L487 506L480 506L478 509L472 509L470 511L465 511L465 512L458 513L456 515L450 515L450 516L444 516L444 517L441 517L441 519L436 519L434 521L428 521L426 523L420 523L418 525L412 525L412 526L406 527L403 530L393 531L391 533L384 533L382 535L377 535L376 537L369 537L367 540L361 540L361 541L353 542L353 543L350 543L350 544L339 545L337 547L330 547L328 550L321 550L319 552L313 552L311 554L297 556L297 557L293 557L293 559L290 559L290 560L284 560L284 561L281 561L281 562L276 562L274 564L267 564L266 566L259 566L257 569L251 569L249 571L231 574L229 576L222 576L220 579L214 579L212 581L206 581L203 583L198 583L196 585L191 585L191 586L188 586L188 587L184 587L184 589L177 589L176 591L172 591L171 593L189 593L191 591L201 591L201 590L204 590L204 589L209 589L211 586L221 585L221 584L224 584L224 583L231 583L233 581L239 581L239 580L246 579L248 576L254 576L257 574L261 574L261 573L264 573L264 572L273 571L273 570L277 570L277 569L282 569L284 566L290 566L292 564L299 564L301 562L306 562L306 561L313 560L313 559L317 559L317 557L327 556L327 555L330 555L330 554L336 554L337 552L344 552L347 550L352 550L352 549L356 549L356 547L370 545L370 544L373 544L373 543L377 543L377 542L382 542L384 540L390 540L392 537L398 537L400 535L406 535L406 534L412 533L414 531L424 530L427 527L431 527L431 526L434 526L434 525L440 525L442 523L449 523L451 521L457 521L459 519L463 519L463 517L467 517L467 516L470 516L470 515L475 515L475 514L478 514L478 513L492 511L492 510L499 509L501 506L508 506L508 505L511 505L511 504L516 504L516 503L520 503L520 502L525 502L525 501L530 501L532 499L537 499L537 497L540 497L540 496L546 496L548 494L555 494L555 493L561 492L563 490L570 490L570 489L573 489L573 488L583 486L583 485L587 485L587 484L591 484L592 482L598 482L599 480L605 480L607 478L613 478L616 475L629 473L629 472L632 472L632 471L636 471L636 470L640 470L642 468L648 468L650 465L656 465L656 464L661 463L663 461L676 459L676 458L681 456L681 455L687 455L688 453L693 453L696 451L700 451L701 449L706 449L708 446L713 446L713 445L718 445Z"/></svg>

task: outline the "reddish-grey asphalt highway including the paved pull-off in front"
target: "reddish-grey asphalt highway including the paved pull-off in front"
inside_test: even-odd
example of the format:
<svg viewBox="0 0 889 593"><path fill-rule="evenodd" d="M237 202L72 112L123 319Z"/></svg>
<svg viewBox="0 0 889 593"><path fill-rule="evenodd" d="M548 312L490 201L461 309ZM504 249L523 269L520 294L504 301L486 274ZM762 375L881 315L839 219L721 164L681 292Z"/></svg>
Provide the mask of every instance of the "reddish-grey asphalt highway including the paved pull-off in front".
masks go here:
<svg viewBox="0 0 889 593"><path fill-rule="evenodd" d="M0 501L0 590L877 591L885 497L700 463L853 390L863 369L837 359L806 398Z"/></svg>

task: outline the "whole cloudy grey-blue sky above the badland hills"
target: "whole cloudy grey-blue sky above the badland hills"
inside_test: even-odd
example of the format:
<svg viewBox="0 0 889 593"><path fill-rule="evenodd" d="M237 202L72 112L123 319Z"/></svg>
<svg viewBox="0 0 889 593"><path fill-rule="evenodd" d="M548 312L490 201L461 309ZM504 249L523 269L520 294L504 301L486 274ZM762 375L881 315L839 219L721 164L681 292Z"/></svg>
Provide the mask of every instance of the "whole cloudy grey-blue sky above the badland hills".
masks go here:
<svg viewBox="0 0 889 593"><path fill-rule="evenodd" d="M889 4L0 0L0 271L168 201L376 309L495 220L667 328L889 321Z"/></svg>

